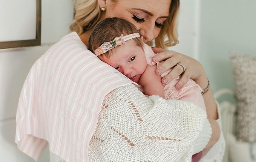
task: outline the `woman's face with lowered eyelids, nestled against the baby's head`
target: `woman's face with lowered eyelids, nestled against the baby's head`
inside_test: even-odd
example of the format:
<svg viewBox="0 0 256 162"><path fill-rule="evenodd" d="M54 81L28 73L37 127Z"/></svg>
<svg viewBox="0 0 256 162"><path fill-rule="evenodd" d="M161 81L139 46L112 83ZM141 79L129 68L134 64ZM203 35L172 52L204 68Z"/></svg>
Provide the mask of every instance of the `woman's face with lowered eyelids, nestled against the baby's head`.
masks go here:
<svg viewBox="0 0 256 162"><path fill-rule="evenodd" d="M119 17L134 24L145 43L155 39L169 16L171 0L106 0L104 18Z"/></svg>

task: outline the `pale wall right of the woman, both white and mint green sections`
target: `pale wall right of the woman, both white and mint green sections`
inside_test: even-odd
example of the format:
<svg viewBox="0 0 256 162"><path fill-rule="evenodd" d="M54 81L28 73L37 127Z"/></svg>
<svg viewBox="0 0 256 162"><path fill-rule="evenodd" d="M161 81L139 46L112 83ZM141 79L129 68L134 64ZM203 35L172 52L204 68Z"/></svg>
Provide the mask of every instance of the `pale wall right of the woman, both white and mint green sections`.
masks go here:
<svg viewBox="0 0 256 162"><path fill-rule="evenodd" d="M235 90L230 52L256 56L255 0L181 0L179 44L170 50L196 58L213 92ZM231 96L224 96L234 102Z"/></svg>

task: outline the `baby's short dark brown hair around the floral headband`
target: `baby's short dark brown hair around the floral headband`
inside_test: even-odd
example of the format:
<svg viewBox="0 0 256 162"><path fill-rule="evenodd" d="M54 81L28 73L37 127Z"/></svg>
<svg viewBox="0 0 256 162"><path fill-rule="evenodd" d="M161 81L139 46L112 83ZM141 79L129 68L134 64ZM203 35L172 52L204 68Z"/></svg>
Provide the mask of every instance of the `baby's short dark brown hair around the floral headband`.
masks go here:
<svg viewBox="0 0 256 162"><path fill-rule="evenodd" d="M117 17L106 18L100 21L95 26L94 30L92 30L92 33L89 37L88 49L94 53L94 51L99 48L104 42L109 42L115 39L115 37L119 37L121 34L126 36L132 33L139 33L139 31L129 21ZM144 43L142 42L140 37L136 37L131 40L135 42L135 45L138 45L139 47L144 49ZM115 48L118 48L118 46L116 46ZM102 55L110 58L110 55L112 51L115 50L115 48L110 49ZM99 56L101 57L101 55Z"/></svg>

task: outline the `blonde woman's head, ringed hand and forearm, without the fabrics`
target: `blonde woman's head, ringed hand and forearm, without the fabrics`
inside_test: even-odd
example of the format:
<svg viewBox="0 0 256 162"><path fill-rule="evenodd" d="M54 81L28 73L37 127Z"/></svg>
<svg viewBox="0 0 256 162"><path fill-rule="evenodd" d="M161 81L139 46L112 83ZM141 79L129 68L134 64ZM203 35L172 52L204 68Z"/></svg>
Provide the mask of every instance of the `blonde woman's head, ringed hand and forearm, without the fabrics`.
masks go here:
<svg viewBox="0 0 256 162"><path fill-rule="evenodd" d="M75 1L75 20L70 28L71 31L76 31L82 42L87 45L90 32L98 21L107 17L120 17L130 21L140 31L140 35L144 37L145 43L150 43L155 39L156 46L160 47L153 48L155 53L159 53L156 58L153 58L153 61L156 62L167 59L166 62L156 70L158 75L173 68L178 63L185 67L186 70L182 73L183 68L181 66L175 66L165 78L162 78L163 83L169 83L169 81L172 81L178 75L182 74L180 81L176 84L177 89L184 86L189 78L196 81L202 89L205 89L208 84L207 76L204 72L204 68L198 61L175 51L164 51L161 49L167 46L174 46L178 43L176 19L179 9L179 0L172 0L171 4L170 2L170 0L117 0L117 2L114 3L114 1L111 0L77 0ZM137 6L143 7L138 8ZM160 11L162 13L160 13ZM150 16L152 13L155 15ZM164 21L165 24L163 25ZM167 42L164 42L165 34L168 36ZM204 95L204 99L206 107L212 110L212 117L218 119L217 105L211 89Z"/></svg>

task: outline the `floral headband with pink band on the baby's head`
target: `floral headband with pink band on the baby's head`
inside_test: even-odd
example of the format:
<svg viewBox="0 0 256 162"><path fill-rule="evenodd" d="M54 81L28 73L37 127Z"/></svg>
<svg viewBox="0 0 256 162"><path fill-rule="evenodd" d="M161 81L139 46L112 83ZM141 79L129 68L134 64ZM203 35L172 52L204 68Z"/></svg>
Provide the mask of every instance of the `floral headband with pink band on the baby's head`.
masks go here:
<svg viewBox="0 0 256 162"><path fill-rule="evenodd" d="M118 45L123 45L127 40L133 39L135 37L140 37L139 33L128 34L126 36L123 36L123 34L121 34L120 37L115 37L115 39L111 40L110 42L104 42L99 48L94 51L94 53L96 56L104 54L110 49L115 48Z"/></svg>

